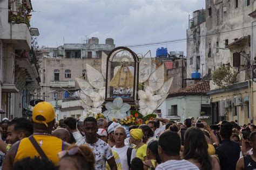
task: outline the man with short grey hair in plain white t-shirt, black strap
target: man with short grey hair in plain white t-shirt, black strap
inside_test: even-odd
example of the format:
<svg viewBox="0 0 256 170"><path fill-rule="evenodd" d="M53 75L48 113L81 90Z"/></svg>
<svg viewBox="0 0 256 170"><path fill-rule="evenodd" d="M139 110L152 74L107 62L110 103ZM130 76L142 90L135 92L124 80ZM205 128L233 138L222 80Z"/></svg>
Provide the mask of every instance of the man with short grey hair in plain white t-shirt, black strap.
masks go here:
<svg viewBox="0 0 256 170"><path fill-rule="evenodd" d="M119 155L122 169L130 169L131 160L136 157L136 151L124 144L126 139L126 129L123 126L117 126L114 129L114 140L116 145L112 147L113 151L116 151ZM129 157L127 157L129 155Z"/></svg>

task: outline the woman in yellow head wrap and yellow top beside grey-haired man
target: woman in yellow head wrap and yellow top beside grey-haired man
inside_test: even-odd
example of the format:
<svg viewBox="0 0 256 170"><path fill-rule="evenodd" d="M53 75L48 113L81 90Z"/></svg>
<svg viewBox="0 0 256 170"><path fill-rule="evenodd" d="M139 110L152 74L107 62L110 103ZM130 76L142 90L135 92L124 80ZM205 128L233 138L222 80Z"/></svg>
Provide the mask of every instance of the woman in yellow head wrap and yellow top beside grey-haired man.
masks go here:
<svg viewBox="0 0 256 170"><path fill-rule="evenodd" d="M130 143L135 145L133 148L136 150L136 157L145 161L147 160L147 145L143 143L142 139L142 129L132 129L130 131Z"/></svg>

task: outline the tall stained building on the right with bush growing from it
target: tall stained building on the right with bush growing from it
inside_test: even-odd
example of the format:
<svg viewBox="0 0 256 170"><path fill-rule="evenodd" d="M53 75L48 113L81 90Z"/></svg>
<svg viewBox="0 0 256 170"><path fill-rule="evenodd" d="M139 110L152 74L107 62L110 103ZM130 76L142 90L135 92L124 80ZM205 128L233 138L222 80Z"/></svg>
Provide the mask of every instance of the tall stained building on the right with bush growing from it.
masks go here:
<svg viewBox="0 0 256 170"><path fill-rule="evenodd" d="M210 81L210 91L206 94L211 99L212 123L223 119L237 119L239 124L256 121L252 114L256 108L252 104L255 94L251 81L255 30L253 17L249 16L255 11L255 1L206 0L204 11L205 22L187 30L188 70L198 70L197 62L192 63L191 58L204 54L201 55L203 59L200 58L204 67L200 67L200 73L203 77L207 75L205 79L211 79L219 67L231 67L238 72L235 83L227 88L220 88ZM200 48L200 45L203 46Z"/></svg>

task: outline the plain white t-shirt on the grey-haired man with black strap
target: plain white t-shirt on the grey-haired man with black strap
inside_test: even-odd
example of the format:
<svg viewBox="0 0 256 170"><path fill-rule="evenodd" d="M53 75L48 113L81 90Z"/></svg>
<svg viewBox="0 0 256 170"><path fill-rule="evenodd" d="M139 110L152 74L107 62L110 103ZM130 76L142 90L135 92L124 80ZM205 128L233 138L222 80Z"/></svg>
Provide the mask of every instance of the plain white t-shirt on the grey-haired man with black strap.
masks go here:
<svg viewBox="0 0 256 170"><path fill-rule="evenodd" d="M128 163L127 163L127 150L128 150L129 146L124 146L121 148L116 148L116 146L112 147L113 151L116 151L119 155L121 164L122 164L122 169L129 169ZM132 154L131 154L131 161L133 158L136 157L136 151L133 149L132 150Z"/></svg>

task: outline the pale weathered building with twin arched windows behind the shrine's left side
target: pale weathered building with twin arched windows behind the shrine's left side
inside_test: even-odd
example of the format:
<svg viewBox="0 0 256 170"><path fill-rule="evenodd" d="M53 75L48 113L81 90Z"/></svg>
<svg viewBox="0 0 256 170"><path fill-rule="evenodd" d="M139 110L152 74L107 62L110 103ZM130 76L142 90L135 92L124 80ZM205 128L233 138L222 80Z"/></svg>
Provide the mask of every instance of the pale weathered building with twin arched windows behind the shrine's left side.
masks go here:
<svg viewBox="0 0 256 170"><path fill-rule="evenodd" d="M87 79L86 65L101 70L102 60L114 48L113 39L106 44L98 44L95 38L89 44L64 44L57 48L42 48L38 52L41 58L41 86L39 96L52 103L57 119L65 117L79 118L83 115L83 102L77 91L76 77Z"/></svg>

